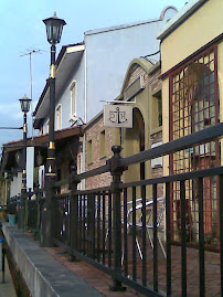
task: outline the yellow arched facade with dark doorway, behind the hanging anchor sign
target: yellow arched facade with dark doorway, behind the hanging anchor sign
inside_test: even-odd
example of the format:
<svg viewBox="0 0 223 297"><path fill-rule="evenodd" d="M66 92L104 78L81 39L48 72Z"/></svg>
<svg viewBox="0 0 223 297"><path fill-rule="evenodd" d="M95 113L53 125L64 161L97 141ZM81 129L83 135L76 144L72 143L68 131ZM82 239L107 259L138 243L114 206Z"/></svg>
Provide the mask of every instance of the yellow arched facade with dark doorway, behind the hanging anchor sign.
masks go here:
<svg viewBox="0 0 223 297"><path fill-rule="evenodd" d="M132 106L132 128L120 129L123 157L129 157L148 150L162 142L162 99L160 63L153 64L146 57L135 59L129 64L120 91L119 100L129 102ZM124 182L145 180L162 176L162 158L129 166L124 172ZM137 197L141 193L137 189ZM151 197L151 188L147 191ZM162 197L162 185L158 187Z"/></svg>

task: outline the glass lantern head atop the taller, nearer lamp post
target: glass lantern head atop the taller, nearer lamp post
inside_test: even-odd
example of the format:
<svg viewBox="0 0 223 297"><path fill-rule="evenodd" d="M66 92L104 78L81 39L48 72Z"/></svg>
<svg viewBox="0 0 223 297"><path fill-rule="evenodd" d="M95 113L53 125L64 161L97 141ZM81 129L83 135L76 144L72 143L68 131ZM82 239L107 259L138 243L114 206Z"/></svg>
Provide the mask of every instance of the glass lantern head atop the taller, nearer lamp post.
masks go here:
<svg viewBox="0 0 223 297"><path fill-rule="evenodd" d="M43 20L43 22L46 28L47 41L54 45L56 43L60 43L63 26L66 24L66 22L62 19L59 19L55 12L54 12L53 18L45 19Z"/></svg>

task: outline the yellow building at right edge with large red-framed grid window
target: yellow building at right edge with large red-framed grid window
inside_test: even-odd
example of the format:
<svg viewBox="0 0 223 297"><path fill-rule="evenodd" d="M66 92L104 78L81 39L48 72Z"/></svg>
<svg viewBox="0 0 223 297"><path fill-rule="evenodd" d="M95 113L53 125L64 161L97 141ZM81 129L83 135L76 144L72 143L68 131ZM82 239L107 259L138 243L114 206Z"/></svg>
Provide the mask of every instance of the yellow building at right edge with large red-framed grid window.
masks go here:
<svg viewBox="0 0 223 297"><path fill-rule="evenodd" d="M223 118L223 1L191 0L159 32L161 40L163 142L213 126ZM164 174L220 165L212 141L164 158ZM204 234L217 242L217 179L204 178ZM187 184L188 240L198 241L197 184ZM172 188L173 232L179 227L179 184Z"/></svg>

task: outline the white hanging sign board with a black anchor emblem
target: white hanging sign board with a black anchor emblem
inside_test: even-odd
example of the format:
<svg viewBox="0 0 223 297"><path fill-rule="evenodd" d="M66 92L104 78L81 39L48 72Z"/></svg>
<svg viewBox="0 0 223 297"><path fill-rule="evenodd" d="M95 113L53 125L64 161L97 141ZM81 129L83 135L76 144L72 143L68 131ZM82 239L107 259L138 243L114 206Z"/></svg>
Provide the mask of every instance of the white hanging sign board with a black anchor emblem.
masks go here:
<svg viewBox="0 0 223 297"><path fill-rule="evenodd" d="M132 128L132 106L106 105L104 107L104 126Z"/></svg>

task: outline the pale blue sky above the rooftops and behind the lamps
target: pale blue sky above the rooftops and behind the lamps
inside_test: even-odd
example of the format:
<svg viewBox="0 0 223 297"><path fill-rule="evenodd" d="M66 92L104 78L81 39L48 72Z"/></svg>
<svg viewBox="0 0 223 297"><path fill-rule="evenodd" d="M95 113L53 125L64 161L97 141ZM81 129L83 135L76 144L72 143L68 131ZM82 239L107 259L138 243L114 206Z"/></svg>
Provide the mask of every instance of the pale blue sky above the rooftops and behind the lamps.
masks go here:
<svg viewBox="0 0 223 297"><path fill-rule="evenodd" d="M31 114L45 86L50 72L50 44L43 19L56 12L64 19L62 45L82 42L84 32L106 26L158 19L162 9L173 6L181 10L187 0L0 0L1 71L0 71L0 147L22 138L23 114L19 99L31 97L30 55L32 68L32 108L28 114L28 136L32 131Z"/></svg>

